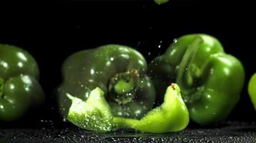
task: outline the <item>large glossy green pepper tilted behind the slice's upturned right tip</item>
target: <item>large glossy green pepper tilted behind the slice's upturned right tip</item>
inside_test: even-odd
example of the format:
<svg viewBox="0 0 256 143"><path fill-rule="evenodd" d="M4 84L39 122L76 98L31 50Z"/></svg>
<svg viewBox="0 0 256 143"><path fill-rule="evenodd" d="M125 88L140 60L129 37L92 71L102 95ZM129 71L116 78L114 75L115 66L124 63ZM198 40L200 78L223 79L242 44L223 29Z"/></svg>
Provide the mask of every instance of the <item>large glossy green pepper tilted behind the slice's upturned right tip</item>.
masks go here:
<svg viewBox="0 0 256 143"><path fill-rule="evenodd" d="M220 42L206 34L190 34L174 41L165 54L149 64L149 75L157 95L163 94L168 83L177 83L191 119L201 125L225 119L237 104L244 84L241 62L225 54Z"/></svg>

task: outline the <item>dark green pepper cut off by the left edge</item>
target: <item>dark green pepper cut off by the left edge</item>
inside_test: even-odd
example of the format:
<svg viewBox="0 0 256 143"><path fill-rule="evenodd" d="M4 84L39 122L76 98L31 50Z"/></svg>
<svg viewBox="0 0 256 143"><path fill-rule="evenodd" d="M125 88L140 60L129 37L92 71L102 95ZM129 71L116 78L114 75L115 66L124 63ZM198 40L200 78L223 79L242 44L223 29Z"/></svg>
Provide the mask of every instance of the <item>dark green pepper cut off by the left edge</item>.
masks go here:
<svg viewBox="0 0 256 143"><path fill-rule="evenodd" d="M45 96L35 59L17 46L0 44L0 121L20 119Z"/></svg>

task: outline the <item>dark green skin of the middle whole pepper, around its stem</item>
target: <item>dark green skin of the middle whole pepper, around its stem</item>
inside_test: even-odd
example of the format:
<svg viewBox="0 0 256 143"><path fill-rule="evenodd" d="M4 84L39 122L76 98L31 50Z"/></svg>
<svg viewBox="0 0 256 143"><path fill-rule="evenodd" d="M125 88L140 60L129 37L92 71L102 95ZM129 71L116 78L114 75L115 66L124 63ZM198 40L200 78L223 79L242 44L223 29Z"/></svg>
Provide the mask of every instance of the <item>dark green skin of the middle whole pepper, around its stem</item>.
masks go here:
<svg viewBox="0 0 256 143"><path fill-rule="evenodd" d="M126 104L114 102L109 95L111 79L131 69L136 69L140 74L134 99ZM152 109L155 102L155 88L146 75L147 62L138 51L128 46L110 44L78 51L65 60L62 71L63 83L58 88L58 104L64 117L67 117L71 105L67 93L86 101L91 90L96 87L106 93L106 100L115 116L140 119ZM119 84L119 88L131 87L125 86L122 82ZM119 88L115 87L116 90Z"/></svg>

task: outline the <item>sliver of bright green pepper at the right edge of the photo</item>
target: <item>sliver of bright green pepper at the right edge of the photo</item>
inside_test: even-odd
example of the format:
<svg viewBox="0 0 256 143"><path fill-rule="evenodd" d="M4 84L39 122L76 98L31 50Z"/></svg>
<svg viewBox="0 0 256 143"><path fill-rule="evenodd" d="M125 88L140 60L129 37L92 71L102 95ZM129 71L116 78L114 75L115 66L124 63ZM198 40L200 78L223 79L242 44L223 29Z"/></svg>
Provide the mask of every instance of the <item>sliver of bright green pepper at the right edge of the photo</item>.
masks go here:
<svg viewBox="0 0 256 143"><path fill-rule="evenodd" d="M248 92L250 98L252 100L252 104L256 109L256 73L252 75L249 84L248 84Z"/></svg>

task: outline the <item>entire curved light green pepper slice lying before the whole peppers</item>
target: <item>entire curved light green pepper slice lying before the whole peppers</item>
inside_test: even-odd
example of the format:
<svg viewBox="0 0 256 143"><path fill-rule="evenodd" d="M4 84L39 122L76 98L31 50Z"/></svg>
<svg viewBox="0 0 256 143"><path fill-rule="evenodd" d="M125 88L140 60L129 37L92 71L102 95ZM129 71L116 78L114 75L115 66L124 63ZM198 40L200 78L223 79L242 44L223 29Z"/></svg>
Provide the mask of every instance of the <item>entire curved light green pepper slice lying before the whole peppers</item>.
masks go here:
<svg viewBox="0 0 256 143"><path fill-rule="evenodd" d="M152 109L140 120L114 117L104 99L104 92L99 87L93 89L86 102L69 94L68 97L72 100L68 112L70 122L95 132L123 128L152 133L176 132L185 129L189 121L188 109L177 84L168 87L163 104Z"/></svg>

